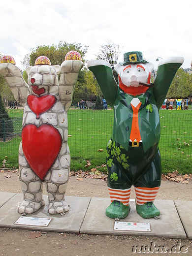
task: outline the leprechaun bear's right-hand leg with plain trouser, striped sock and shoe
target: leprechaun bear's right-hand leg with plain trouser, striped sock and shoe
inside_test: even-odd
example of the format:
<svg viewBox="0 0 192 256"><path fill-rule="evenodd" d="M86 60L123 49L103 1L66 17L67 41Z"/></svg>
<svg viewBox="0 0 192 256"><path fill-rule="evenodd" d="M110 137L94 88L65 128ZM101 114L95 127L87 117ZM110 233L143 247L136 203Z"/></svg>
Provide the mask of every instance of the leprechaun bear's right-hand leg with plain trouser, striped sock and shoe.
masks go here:
<svg viewBox="0 0 192 256"><path fill-rule="evenodd" d="M134 184L136 194L136 210L144 219L160 215L160 210L154 205L154 200L160 189L161 162L160 151L151 162L147 171Z"/></svg>

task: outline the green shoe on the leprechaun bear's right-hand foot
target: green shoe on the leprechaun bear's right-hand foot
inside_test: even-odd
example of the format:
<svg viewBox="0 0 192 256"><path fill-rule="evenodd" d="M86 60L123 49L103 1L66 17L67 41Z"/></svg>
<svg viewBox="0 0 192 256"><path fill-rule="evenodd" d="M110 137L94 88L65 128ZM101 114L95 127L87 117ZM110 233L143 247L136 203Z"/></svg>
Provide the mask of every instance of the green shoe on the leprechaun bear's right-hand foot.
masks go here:
<svg viewBox="0 0 192 256"><path fill-rule="evenodd" d="M136 204L137 213L144 219L154 218L160 215L160 211L153 202L147 202L142 205Z"/></svg>

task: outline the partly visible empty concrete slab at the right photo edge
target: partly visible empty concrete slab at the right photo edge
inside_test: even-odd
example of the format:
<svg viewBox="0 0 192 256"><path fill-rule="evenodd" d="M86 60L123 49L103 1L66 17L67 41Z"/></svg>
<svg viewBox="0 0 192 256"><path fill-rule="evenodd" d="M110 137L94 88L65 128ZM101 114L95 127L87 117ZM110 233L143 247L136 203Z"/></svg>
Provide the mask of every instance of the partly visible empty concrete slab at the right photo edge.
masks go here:
<svg viewBox="0 0 192 256"><path fill-rule="evenodd" d="M192 201L175 200L174 202L187 236L192 239Z"/></svg>

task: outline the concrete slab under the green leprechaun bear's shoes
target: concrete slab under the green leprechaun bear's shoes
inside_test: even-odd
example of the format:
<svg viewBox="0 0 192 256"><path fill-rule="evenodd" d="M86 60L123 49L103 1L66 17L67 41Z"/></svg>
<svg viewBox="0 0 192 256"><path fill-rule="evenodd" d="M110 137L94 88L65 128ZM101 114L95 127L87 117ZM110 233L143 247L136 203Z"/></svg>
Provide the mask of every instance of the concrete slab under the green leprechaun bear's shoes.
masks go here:
<svg viewBox="0 0 192 256"><path fill-rule="evenodd" d="M105 215L105 209L110 204L110 198L91 199L88 211L81 226L81 233L113 234L113 235L150 235L170 238L186 238L186 233L180 221L173 200L155 200L160 210L160 219L143 219L135 209L135 202L130 202L131 210L128 217L120 222L150 223L151 231L122 231L114 230L115 220Z"/></svg>

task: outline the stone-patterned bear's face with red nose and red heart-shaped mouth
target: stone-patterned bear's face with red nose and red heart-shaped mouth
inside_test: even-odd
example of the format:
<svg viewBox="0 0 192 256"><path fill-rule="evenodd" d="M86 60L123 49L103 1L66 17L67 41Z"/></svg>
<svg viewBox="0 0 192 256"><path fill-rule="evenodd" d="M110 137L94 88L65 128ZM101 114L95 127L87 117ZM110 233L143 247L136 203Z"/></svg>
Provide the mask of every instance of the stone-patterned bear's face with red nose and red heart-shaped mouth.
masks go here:
<svg viewBox="0 0 192 256"><path fill-rule="evenodd" d="M49 94L49 88L58 86L59 65L35 65L26 69L28 74L29 93L43 96Z"/></svg>

